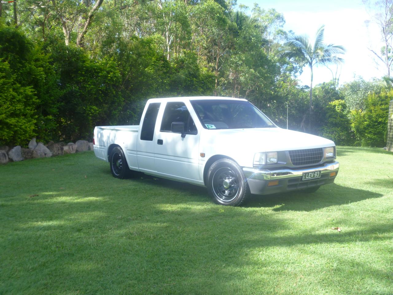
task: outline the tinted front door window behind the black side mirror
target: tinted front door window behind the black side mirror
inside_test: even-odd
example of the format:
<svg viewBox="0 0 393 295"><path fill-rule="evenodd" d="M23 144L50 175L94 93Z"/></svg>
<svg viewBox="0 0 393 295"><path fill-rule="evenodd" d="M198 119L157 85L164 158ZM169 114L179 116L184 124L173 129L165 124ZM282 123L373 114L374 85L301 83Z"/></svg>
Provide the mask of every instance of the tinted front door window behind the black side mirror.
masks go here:
<svg viewBox="0 0 393 295"><path fill-rule="evenodd" d="M197 134L193 118L182 102L168 102L162 117L160 131L171 131L172 122L184 122L185 134Z"/></svg>

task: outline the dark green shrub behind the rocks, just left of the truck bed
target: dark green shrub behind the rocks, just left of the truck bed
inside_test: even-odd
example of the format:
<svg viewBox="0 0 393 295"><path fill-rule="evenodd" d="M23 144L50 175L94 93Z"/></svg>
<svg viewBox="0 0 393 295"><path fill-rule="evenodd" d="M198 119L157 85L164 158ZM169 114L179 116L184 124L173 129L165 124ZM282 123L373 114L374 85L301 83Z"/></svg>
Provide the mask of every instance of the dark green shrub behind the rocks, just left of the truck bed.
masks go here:
<svg viewBox="0 0 393 295"><path fill-rule="evenodd" d="M56 121L61 139L90 139L95 125L116 124L122 107L116 63L92 60L83 50L61 43L48 51L59 70Z"/></svg>

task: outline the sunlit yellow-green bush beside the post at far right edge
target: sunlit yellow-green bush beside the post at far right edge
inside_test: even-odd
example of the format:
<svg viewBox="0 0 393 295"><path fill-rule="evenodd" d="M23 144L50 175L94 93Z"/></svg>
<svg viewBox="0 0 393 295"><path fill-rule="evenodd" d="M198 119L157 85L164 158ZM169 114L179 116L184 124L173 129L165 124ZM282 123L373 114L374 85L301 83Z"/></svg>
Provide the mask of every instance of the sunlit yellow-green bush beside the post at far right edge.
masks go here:
<svg viewBox="0 0 393 295"><path fill-rule="evenodd" d="M381 94L369 94L364 110L352 110L352 128L356 144L361 146L386 146L387 116L389 101L393 99L393 90Z"/></svg>

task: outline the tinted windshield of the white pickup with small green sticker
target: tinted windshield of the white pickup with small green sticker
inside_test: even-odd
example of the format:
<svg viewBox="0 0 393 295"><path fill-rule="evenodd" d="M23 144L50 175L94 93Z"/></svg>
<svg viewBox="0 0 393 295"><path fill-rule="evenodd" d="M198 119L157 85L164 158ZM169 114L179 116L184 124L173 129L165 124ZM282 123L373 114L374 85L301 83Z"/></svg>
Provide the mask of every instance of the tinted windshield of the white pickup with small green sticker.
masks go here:
<svg viewBox="0 0 393 295"><path fill-rule="evenodd" d="M191 100L205 129L276 127L252 103L243 100Z"/></svg>

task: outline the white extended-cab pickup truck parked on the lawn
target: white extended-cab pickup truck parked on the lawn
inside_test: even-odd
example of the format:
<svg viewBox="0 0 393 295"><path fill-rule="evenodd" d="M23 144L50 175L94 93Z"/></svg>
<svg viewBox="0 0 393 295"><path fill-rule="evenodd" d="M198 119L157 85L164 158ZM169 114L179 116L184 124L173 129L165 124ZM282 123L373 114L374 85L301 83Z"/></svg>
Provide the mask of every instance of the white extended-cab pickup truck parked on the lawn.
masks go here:
<svg viewBox="0 0 393 295"><path fill-rule="evenodd" d="M339 167L331 140L281 129L247 100L206 96L148 100L140 125L95 127L94 153L116 178L140 171L206 186L232 206L315 192Z"/></svg>

